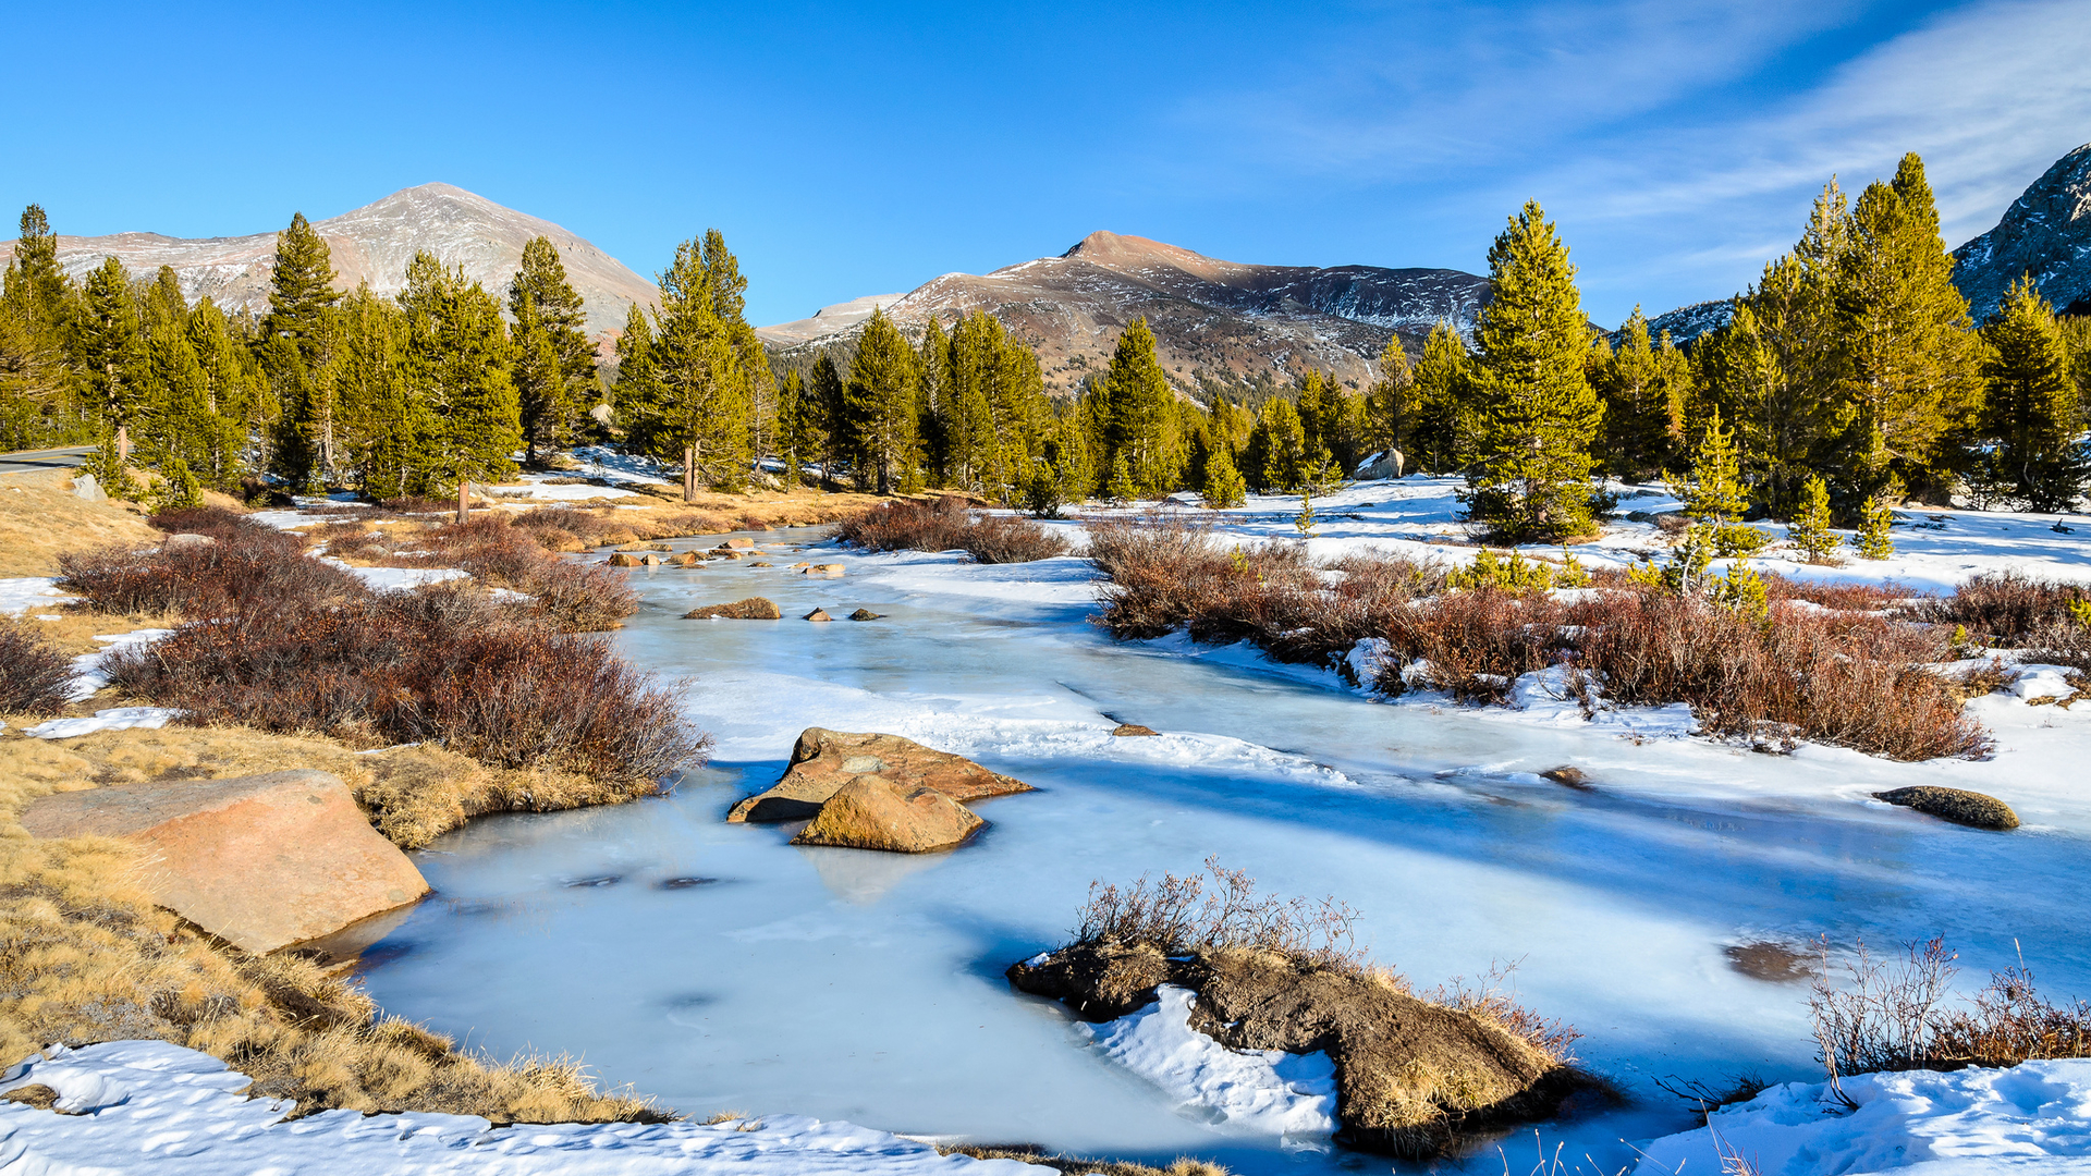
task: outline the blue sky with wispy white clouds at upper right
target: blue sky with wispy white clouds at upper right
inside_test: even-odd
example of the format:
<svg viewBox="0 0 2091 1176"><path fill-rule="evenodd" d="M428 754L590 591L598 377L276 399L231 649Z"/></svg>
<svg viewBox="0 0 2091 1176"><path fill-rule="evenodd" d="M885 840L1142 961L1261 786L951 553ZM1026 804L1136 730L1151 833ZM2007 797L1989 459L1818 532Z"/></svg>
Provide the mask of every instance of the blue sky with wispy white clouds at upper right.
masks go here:
<svg viewBox="0 0 2091 1176"><path fill-rule="evenodd" d="M245 234L443 180L642 274L717 226L755 322L1096 228L1480 272L1539 199L1610 324L1746 285L1830 174L1924 153L1957 245L2091 140L2085 0L40 4L6 27L0 207L59 232Z"/></svg>

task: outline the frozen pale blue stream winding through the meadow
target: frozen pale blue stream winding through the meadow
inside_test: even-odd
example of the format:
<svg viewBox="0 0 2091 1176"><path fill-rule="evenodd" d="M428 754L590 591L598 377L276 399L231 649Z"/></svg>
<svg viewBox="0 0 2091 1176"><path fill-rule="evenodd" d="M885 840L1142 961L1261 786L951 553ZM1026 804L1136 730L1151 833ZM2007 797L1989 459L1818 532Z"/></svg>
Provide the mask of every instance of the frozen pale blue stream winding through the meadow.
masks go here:
<svg viewBox="0 0 2091 1176"><path fill-rule="evenodd" d="M805 580L784 569L797 559L634 571L646 609L617 640L690 678L713 766L665 799L477 820L418 854L435 896L366 973L387 1011L496 1055L581 1055L694 1115L1384 1172L1171 1107L1002 979L1064 940L1092 879L1219 854L1265 887L1351 902L1374 954L1420 988L1522 960L1522 998L1583 1030L1583 1059L1644 1096L1547 1128L1547 1151L1564 1138L1564 1157L1616 1172L1633 1159L1621 1136L1690 1126L1648 1078L1817 1073L1807 986L1744 975L1729 946L1945 933L1968 979L2009 963L2016 937L2045 988L2091 992L2081 806L2022 806L2026 829L1984 835L1861 799L1926 781L2009 797L1995 781L2026 770L2009 755L1771 757L1376 705L1238 651L1112 644L1085 624L1085 561L824 550L849 575ZM792 619L680 619L749 594ZM887 619L795 619L815 605ZM1119 720L1165 737L1112 739ZM805 726L907 734L1039 793L983 804L991 829L930 858L797 850L788 829L723 824ZM1595 791L1535 774L1558 764ZM1506 1147L1531 1168L1529 1132ZM1491 1149L1468 1168L1503 1166Z"/></svg>

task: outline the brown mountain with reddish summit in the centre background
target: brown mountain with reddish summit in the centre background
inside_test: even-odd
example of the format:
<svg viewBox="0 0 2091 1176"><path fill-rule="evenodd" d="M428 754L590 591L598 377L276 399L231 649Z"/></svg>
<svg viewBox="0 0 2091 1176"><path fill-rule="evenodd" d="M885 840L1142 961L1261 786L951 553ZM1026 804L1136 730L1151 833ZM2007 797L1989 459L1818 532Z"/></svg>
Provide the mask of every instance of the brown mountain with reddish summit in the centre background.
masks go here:
<svg viewBox="0 0 2091 1176"><path fill-rule="evenodd" d="M907 329L930 318L949 326L974 310L1002 318L1037 347L1050 391L1108 366L1119 333L1146 316L1163 370L1192 391L1200 370L1223 381L1255 372L1286 381L1322 368L1363 385L1388 333L1411 354L1441 318L1468 333L1487 291L1487 278L1460 270L1246 266L1092 232L1058 257L985 276L945 274L889 306L878 301ZM851 314L859 303L861 314ZM868 299L857 299L757 335L790 354L849 339L868 316Z"/></svg>

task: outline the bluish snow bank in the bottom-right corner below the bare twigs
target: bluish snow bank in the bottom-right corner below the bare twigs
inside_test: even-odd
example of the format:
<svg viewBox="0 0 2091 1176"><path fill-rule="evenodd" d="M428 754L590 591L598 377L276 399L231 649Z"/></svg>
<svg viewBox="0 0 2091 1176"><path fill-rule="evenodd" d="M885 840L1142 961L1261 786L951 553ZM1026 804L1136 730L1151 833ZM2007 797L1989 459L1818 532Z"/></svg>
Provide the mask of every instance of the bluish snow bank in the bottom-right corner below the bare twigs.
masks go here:
<svg viewBox="0 0 2091 1176"><path fill-rule="evenodd" d="M1828 1084L1773 1086L1700 1130L1650 1143L1635 1174L1729 1172L1723 1153L1763 1176L2091 1172L2091 1061L1861 1073L1844 1080L1844 1094L1857 1111Z"/></svg>

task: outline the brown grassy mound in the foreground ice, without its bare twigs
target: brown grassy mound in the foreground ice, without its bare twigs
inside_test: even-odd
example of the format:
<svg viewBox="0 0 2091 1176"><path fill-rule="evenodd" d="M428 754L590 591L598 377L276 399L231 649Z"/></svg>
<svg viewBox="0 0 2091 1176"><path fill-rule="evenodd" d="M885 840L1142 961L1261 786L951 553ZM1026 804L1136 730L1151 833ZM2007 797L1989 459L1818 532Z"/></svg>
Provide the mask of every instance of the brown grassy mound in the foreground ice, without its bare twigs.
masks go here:
<svg viewBox="0 0 2091 1176"><path fill-rule="evenodd" d="M1386 973L1248 948L1169 958L1146 944L1075 944L1008 969L1022 992L1085 1019L1123 1017L1163 983L1198 994L1190 1027L1230 1048L1326 1050L1336 1138L1424 1159L1464 1132L1541 1120L1591 1086L1491 1017L1422 1000Z"/></svg>

